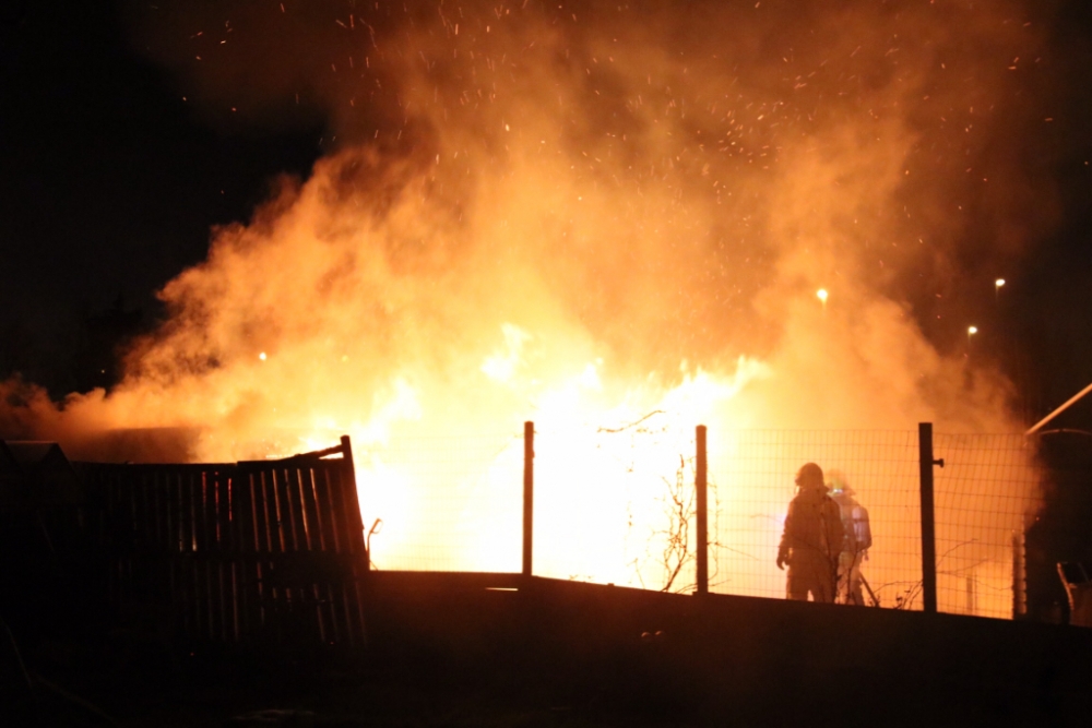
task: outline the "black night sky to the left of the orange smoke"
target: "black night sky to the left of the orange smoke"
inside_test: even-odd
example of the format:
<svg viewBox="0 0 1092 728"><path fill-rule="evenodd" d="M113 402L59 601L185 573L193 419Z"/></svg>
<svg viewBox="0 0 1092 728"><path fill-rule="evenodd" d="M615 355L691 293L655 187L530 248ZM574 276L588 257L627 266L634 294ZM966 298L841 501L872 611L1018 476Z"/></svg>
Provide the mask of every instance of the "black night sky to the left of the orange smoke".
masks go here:
<svg viewBox="0 0 1092 728"><path fill-rule="evenodd" d="M109 2L4 2L0 69L0 372L55 395L93 377L88 320L139 312L245 220L282 172L320 155L322 119L202 123L131 47ZM100 353L95 353L100 355ZM88 371L88 367L91 370Z"/></svg>

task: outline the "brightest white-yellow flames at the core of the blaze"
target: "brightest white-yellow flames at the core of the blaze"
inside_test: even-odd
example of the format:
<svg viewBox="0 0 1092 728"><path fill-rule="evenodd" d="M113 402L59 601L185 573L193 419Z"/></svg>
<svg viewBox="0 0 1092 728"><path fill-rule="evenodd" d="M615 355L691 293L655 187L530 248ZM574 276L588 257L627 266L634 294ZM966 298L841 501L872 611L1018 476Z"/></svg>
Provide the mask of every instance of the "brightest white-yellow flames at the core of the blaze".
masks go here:
<svg viewBox="0 0 1092 728"><path fill-rule="evenodd" d="M602 358L546 372L524 356L533 348L532 333L510 323L499 333L499 345L482 361L478 394L519 393L534 418L535 573L658 585L665 565L650 561L650 540L666 536L665 476L674 479L681 467L692 480L693 423L731 426L733 397L769 375L768 368L740 357L733 374L721 375L684 363L675 383L649 378L617 386L604 382ZM325 417L300 443L311 447L341 430L353 437L365 523L382 522L372 545L381 568L519 570L519 420L508 422L512 434L485 437L491 444L480 447L479 433L502 426L488 421L491 413L463 428L470 438L436 432L431 415L402 382L372 421L347 427L347 419ZM392 441L395 432L410 445ZM430 460L437 447L447 453L439 463ZM438 512L441 521L423 521Z"/></svg>

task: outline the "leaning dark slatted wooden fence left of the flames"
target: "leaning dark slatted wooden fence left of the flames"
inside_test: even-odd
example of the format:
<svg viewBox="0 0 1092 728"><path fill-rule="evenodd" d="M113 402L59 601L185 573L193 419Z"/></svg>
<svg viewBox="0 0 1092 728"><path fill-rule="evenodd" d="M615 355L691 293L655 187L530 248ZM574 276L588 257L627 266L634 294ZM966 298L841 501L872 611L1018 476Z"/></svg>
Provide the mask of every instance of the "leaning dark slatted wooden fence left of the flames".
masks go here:
<svg viewBox="0 0 1092 728"><path fill-rule="evenodd" d="M122 616L175 643L365 643L369 562L347 437L280 461L82 470Z"/></svg>

